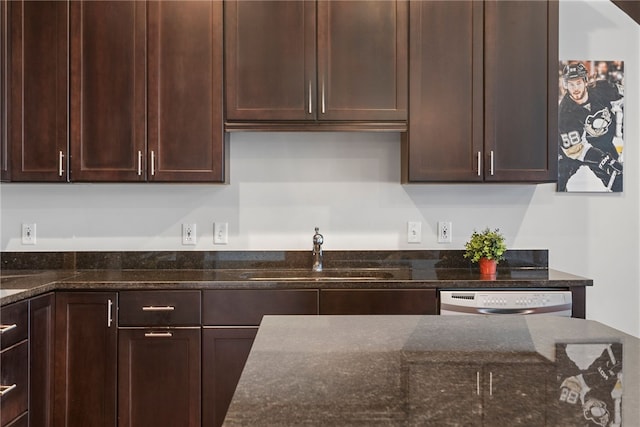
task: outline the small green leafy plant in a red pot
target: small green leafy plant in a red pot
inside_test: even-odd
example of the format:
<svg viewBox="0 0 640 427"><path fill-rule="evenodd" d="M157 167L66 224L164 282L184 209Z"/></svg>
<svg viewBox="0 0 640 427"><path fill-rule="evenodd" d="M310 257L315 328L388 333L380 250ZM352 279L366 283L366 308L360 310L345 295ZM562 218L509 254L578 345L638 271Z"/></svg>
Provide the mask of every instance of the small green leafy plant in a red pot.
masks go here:
<svg viewBox="0 0 640 427"><path fill-rule="evenodd" d="M504 259L507 245L500 229L485 228L482 232L473 231L471 238L464 245L464 257L477 262L480 274L495 275L497 264Z"/></svg>

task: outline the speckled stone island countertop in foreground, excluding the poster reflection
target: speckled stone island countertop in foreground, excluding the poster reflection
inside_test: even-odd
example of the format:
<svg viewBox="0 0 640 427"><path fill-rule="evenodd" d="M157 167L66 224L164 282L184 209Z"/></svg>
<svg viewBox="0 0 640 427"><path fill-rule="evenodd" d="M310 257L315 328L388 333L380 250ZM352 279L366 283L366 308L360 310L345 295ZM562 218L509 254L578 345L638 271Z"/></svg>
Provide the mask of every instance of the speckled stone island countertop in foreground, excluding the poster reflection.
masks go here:
<svg viewBox="0 0 640 427"><path fill-rule="evenodd" d="M594 341L623 344L623 425L635 425L640 340L594 321L266 316L224 425L561 425L555 344ZM517 392L504 394L505 378ZM445 393L452 384L461 384L455 398Z"/></svg>

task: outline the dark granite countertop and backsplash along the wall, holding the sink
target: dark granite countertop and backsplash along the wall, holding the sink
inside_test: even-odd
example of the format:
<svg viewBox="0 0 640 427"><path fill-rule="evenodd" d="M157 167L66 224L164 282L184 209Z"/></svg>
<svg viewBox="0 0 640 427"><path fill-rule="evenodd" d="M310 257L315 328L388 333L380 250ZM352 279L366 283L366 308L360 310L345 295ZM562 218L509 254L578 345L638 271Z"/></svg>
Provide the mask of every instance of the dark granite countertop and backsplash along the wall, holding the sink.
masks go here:
<svg viewBox="0 0 640 427"><path fill-rule="evenodd" d="M592 280L548 269L544 250L511 251L483 277L461 251L3 253L0 304L52 290L570 288ZM307 265L309 264L309 265Z"/></svg>

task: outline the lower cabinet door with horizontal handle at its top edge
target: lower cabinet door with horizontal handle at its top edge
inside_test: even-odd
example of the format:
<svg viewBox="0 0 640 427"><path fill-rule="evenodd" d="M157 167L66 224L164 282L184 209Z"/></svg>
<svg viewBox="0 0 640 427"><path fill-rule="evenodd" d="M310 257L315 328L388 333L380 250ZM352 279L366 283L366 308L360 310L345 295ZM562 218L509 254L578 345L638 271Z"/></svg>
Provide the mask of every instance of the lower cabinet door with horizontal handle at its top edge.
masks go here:
<svg viewBox="0 0 640 427"><path fill-rule="evenodd" d="M120 329L118 425L200 426L200 328Z"/></svg>

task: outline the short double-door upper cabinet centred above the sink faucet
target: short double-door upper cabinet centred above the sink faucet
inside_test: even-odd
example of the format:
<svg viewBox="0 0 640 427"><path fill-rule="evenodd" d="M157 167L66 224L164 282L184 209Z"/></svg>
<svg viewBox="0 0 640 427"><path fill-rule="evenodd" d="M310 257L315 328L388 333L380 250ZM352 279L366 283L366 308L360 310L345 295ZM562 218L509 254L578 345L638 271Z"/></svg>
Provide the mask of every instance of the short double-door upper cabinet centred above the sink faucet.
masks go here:
<svg viewBox="0 0 640 427"><path fill-rule="evenodd" d="M406 121L406 1L226 1L224 8L227 129Z"/></svg>

